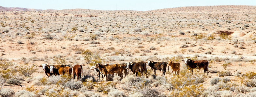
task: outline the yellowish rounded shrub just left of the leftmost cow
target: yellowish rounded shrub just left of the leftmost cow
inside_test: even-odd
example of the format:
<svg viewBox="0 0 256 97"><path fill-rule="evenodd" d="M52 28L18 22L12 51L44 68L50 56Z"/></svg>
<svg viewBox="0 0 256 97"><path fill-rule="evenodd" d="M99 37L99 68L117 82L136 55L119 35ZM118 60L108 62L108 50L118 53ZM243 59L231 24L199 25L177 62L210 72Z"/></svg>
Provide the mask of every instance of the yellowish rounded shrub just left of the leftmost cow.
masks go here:
<svg viewBox="0 0 256 97"><path fill-rule="evenodd" d="M22 65L18 67L18 71L23 74L25 77L30 77L37 69L35 65L28 66L28 65Z"/></svg>

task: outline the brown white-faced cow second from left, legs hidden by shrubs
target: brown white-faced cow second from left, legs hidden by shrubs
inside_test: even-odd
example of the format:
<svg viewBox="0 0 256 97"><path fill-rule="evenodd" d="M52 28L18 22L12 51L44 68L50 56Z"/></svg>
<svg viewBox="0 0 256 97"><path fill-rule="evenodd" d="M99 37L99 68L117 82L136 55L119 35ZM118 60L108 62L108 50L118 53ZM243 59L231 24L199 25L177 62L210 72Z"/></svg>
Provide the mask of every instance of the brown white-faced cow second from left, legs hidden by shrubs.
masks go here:
<svg viewBox="0 0 256 97"><path fill-rule="evenodd" d="M72 74L72 68L71 67L54 67L50 66L50 72L54 75L70 75Z"/></svg>

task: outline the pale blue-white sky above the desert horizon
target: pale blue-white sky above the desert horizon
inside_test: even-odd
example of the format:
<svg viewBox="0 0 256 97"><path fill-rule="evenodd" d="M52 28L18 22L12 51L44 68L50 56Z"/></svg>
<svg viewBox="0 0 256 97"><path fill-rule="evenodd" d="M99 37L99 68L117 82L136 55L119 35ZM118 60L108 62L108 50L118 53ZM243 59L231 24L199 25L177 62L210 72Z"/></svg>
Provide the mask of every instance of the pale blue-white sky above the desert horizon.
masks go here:
<svg viewBox="0 0 256 97"><path fill-rule="evenodd" d="M256 0L0 0L3 7L147 11L184 6L256 5Z"/></svg>

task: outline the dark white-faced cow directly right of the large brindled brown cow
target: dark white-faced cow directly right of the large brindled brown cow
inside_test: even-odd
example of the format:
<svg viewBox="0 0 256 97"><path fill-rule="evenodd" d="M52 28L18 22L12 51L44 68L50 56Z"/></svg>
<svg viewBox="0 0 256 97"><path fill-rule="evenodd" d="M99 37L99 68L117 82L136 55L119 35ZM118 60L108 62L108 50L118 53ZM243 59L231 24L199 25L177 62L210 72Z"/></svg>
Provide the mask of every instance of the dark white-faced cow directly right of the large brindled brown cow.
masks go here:
<svg viewBox="0 0 256 97"><path fill-rule="evenodd" d="M145 75L147 77L147 65L144 61L135 63L135 62L127 62L126 69L130 69L133 74L136 73L136 76L138 75L138 72L141 73L141 76L143 76L143 73L145 72Z"/></svg>

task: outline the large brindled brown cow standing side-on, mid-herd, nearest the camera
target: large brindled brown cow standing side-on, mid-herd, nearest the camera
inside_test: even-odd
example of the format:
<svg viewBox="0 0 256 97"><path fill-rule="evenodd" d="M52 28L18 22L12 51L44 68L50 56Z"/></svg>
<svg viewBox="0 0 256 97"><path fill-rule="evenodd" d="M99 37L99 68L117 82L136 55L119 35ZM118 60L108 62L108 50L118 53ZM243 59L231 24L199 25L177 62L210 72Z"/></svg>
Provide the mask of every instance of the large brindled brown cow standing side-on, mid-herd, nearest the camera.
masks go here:
<svg viewBox="0 0 256 97"><path fill-rule="evenodd" d="M101 65L97 63L95 65L95 69L99 69L105 75L105 81L107 81L106 77L107 74L114 74L117 73L123 79L123 68L120 64L113 64L113 65Z"/></svg>

